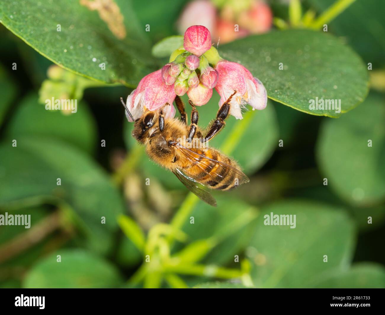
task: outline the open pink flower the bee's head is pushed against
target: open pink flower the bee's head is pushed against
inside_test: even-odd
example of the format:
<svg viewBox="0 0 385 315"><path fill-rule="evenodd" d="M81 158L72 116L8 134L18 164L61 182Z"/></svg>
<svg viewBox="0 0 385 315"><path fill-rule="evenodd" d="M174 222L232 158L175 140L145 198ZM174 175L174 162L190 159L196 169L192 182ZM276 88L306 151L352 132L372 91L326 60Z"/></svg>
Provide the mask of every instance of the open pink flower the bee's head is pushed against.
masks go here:
<svg viewBox="0 0 385 315"><path fill-rule="evenodd" d="M144 110L157 110L167 102L172 104L175 96L174 86L166 85L162 80L162 70L157 70L142 78L138 87L127 97L126 105L132 117L137 119ZM165 112L167 118L174 117L174 106L167 106ZM131 121L127 112L126 117Z"/></svg>

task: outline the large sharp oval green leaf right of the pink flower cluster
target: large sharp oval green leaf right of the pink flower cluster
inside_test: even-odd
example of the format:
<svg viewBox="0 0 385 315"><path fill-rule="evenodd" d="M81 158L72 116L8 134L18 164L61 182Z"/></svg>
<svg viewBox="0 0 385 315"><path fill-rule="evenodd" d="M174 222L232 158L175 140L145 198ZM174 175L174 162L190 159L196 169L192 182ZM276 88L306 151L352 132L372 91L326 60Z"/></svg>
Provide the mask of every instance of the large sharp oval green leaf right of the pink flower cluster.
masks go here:
<svg viewBox="0 0 385 315"><path fill-rule="evenodd" d="M269 98L312 115L339 117L368 93L367 69L360 57L322 32L285 30L249 36L220 46L219 54L248 68ZM316 97L340 99L341 113L310 110L309 101Z"/></svg>

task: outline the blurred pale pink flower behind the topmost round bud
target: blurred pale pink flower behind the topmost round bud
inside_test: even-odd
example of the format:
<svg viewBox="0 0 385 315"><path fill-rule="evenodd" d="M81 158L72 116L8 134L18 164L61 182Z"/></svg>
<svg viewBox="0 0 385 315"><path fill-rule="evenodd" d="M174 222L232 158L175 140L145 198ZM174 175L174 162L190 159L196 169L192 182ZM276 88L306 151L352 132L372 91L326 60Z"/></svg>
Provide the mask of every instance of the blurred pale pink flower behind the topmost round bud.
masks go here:
<svg viewBox="0 0 385 315"><path fill-rule="evenodd" d="M193 0L187 3L178 21L177 28L183 34L192 25L203 25L215 33L216 8L210 0Z"/></svg>

